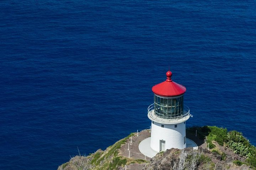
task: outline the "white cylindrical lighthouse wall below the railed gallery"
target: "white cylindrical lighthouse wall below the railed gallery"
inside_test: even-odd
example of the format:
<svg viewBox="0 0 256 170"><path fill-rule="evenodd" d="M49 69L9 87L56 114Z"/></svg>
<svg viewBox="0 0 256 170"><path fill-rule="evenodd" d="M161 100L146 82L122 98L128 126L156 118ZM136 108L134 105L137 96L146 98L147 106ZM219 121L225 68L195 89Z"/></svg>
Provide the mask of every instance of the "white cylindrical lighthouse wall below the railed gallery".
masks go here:
<svg viewBox="0 0 256 170"><path fill-rule="evenodd" d="M162 127L162 125L164 127ZM160 124L151 121L150 147L156 152L160 151L160 140L165 141L165 149L186 148L186 123Z"/></svg>

